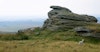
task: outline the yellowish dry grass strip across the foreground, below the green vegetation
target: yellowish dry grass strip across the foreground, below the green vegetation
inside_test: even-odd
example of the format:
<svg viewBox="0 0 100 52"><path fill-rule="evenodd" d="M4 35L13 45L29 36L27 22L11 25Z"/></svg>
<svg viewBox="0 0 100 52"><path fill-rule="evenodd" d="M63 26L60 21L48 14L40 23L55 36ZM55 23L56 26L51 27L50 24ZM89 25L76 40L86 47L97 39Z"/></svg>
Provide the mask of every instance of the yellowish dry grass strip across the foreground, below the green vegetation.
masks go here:
<svg viewBox="0 0 100 52"><path fill-rule="evenodd" d="M82 46L74 41L23 40L0 41L0 52L99 52L100 44L84 43Z"/></svg>

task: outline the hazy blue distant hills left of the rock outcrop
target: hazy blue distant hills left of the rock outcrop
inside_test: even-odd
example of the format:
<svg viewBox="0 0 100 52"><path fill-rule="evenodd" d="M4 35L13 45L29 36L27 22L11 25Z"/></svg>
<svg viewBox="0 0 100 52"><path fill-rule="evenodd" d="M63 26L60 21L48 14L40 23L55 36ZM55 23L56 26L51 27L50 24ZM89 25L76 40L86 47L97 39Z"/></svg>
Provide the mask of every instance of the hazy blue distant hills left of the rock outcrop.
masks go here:
<svg viewBox="0 0 100 52"><path fill-rule="evenodd" d="M0 32L17 32L19 29L26 29L30 27L41 27L43 21L3 21L0 22Z"/></svg>

